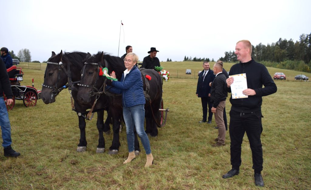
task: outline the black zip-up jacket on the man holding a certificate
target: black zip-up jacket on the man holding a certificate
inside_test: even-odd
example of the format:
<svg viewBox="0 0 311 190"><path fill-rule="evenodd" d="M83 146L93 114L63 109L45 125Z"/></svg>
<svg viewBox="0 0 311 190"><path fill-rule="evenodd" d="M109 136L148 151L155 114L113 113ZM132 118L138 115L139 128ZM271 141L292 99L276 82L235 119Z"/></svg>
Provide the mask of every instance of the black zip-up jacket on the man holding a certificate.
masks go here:
<svg viewBox="0 0 311 190"><path fill-rule="evenodd" d="M246 73L247 88L255 90L256 95L248 96L248 98L232 99L231 94L231 109L242 113L261 111L262 97L276 93L276 84L267 68L261 63L254 61L253 58L246 63L240 62L233 65L229 71L230 75L243 73ZM262 88L262 85L264 85L264 88ZM231 88L228 88L227 85L226 89L231 93Z"/></svg>

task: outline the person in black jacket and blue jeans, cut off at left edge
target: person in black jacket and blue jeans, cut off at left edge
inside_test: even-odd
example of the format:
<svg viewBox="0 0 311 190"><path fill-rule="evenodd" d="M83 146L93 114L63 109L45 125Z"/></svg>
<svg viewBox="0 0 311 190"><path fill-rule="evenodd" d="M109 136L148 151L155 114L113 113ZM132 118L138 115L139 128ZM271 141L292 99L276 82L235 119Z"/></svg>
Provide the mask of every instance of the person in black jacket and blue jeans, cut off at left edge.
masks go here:
<svg viewBox="0 0 311 190"><path fill-rule="evenodd" d="M7 102L3 100L3 93L7 97ZM13 93L11 89L11 84L9 80L9 76L7 75L7 70L5 68L4 62L2 58L0 58L0 125L2 131L2 146L4 156L17 157L20 155L19 152L15 152L12 147L12 139L11 139L11 124L9 120L9 115L7 113L7 106L13 103Z"/></svg>

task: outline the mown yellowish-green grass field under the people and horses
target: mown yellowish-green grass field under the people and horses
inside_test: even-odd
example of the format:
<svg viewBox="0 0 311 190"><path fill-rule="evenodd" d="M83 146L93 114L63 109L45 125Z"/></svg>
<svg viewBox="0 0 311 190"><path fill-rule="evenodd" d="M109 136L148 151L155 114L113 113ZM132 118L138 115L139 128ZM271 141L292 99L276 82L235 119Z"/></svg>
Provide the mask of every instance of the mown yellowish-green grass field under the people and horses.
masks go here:
<svg viewBox="0 0 311 190"><path fill-rule="evenodd" d="M128 155L125 129L120 133L118 155L96 154L96 117L87 121L87 152L76 152L78 120L71 111L69 93L64 90L49 105L39 100L35 107L26 108L22 101L16 101L9 117L12 145L21 156L0 156L0 189L258 189L253 182L246 135L240 174L222 179L221 175L231 169L229 134L224 147L211 147L218 132L213 128L214 119L209 125L198 123L202 107L195 95L197 78L174 78L174 70L202 70L202 63L161 65L171 74L169 82L163 84L164 107L169 107L170 112L166 125L159 128L159 136L150 138L154 155L151 168L144 168L144 151L131 163L122 164ZM225 63L226 70L231 66ZM287 79L276 80L277 93L263 97L262 189L311 189L311 83L294 80L301 72L268 70L271 75L284 72ZM34 78L35 87L41 89L44 70L23 67L23 71L21 84L31 85ZM226 104L229 122L229 97ZM104 138L109 148L112 134L104 134Z"/></svg>

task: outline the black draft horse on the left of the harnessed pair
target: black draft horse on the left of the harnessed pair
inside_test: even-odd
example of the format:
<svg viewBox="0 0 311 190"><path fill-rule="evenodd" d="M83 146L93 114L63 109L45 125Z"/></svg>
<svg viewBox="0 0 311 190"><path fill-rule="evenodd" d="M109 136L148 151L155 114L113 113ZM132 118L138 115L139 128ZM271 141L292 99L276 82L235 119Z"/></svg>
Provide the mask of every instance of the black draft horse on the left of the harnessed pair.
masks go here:
<svg viewBox="0 0 311 190"><path fill-rule="evenodd" d="M84 52L66 52L61 51L58 55L52 52L52 56L47 61L47 67L44 74L44 83L42 84L41 99L45 104L55 102L55 97L64 88L65 85L69 89L72 89L72 98L74 100L74 110L78 114L80 140L77 147L78 152L86 151L86 133L85 133L85 113L87 109L92 107L92 104L80 104L77 100L78 86L77 82L81 79L81 69L84 65L83 60L86 57ZM68 83L68 84L67 84ZM95 98L95 97L94 97ZM93 99L94 99L93 98ZM73 102L72 102L73 103ZM109 120L107 119L104 124L104 110L108 103L106 98L101 97L99 103L97 103L94 109L98 109L97 112L97 129L99 132L99 139L96 152L102 153L105 150L105 141L103 132L109 133ZM79 114L82 113L82 114ZM107 118L110 118L109 116Z"/></svg>

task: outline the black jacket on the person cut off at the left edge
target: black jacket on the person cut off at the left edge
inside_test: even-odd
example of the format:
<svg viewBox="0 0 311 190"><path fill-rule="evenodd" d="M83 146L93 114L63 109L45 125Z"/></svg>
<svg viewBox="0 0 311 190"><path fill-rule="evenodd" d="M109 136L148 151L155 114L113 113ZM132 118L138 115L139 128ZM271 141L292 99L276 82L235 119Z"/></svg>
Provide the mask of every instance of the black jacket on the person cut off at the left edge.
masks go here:
<svg viewBox="0 0 311 190"><path fill-rule="evenodd" d="M5 68L2 58L0 58L0 97L3 96L3 92L7 99L13 97L9 75L7 75L7 69Z"/></svg>

